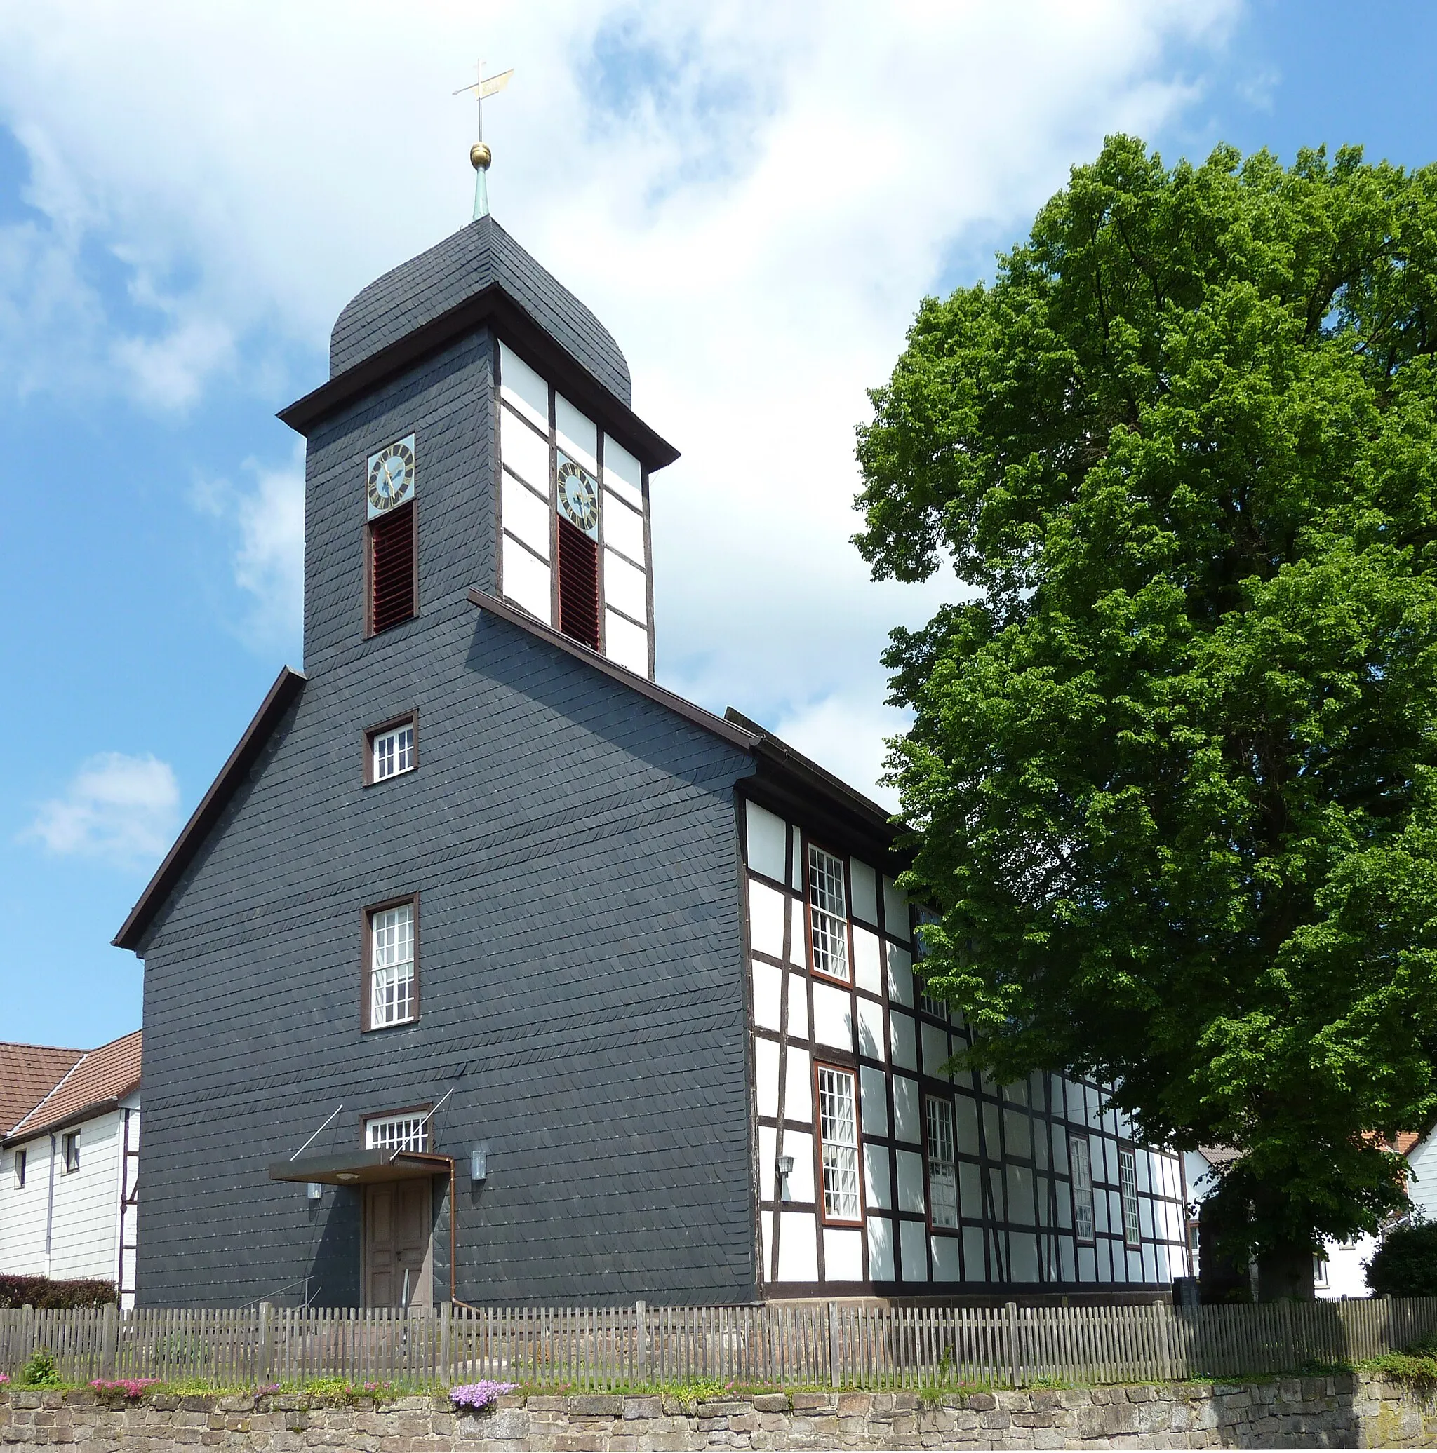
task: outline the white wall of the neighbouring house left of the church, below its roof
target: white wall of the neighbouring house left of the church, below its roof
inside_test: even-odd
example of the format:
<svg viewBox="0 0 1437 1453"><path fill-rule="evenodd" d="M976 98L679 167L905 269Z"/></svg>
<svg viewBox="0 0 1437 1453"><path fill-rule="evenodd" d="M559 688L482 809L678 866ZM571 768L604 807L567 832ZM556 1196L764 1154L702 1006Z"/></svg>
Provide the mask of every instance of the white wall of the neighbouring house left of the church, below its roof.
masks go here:
<svg viewBox="0 0 1437 1453"><path fill-rule="evenodd" d="M80 1136L74 1171L65 1170L63 1151L70 1130ZM122 1196L132 1197L138 1149L140 1098L132 1096L119 1109L0 1151L0 1271L116 1282L132 1306L135 1206L122 1206ZM23 1187L15 1175L19 1151L26 1152Z"/></svg>

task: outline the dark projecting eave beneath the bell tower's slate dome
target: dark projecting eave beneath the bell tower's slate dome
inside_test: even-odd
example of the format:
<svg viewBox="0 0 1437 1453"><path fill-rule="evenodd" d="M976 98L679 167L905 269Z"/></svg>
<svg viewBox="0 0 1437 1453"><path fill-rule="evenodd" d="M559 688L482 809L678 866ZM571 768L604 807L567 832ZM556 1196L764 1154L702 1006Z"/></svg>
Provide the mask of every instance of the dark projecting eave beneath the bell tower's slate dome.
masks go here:
<svg viewBox="0 0 1437 1453"><path fill-rule="evenodd" d="M628 404L559 344L499 282L489 283L436 318L336 373L281 408L278 417L297 433L308 434L314 424L375 384L489 323L496 324L505 341L541 373L547 373L550 382L577 407L593 414L607 433L650 469L662 469L678 459L679 452L673 445L650 429Z"/></svg>

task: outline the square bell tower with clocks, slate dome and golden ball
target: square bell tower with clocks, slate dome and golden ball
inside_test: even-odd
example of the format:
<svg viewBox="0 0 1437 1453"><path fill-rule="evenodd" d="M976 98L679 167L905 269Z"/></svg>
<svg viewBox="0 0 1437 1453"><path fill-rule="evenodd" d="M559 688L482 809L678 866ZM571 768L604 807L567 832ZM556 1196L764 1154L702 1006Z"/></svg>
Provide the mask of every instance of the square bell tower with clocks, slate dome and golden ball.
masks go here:
<svg viewBox="0 0 1437 1453"><path fill-rule="evenodd" d="M361 291L308 442L305 668L463 613L477 588L653 679L649 479L678 458L630 407L609 331L489 215Z"/></svg>

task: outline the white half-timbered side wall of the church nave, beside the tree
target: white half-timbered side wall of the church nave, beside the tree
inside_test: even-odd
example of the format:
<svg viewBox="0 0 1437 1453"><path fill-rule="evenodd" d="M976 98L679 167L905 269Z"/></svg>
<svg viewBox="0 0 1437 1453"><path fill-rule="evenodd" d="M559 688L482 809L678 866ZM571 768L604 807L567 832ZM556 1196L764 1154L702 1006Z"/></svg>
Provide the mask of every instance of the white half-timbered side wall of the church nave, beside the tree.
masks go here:
<svg viewBox="0 0 1437 1453"><path fill-rule="evenodd" d="M761 1280L771 1295L816 1287L934 1295L944 1286L1054 1290L1159 1286L1187 1274L1182 1167L1134 1145L1095 1084L1056 1074L999 1088L944 1074L967 1046L961 1017L928 1001L912 966L908 902L890 878L833 841L846 869L848 982L812 971L809 837L753 802L748 865L755 1178ZM825 1216L814 1067L857 1075L860 1225ZM929 1098L951 1106L958 1225L932 1223ZM945 1113L945 1112L944 1112ZM1075 1231L1070 1145L1088 1144L1092 1237ZM1133 1154L1140 1237L1124 1237L1118 1152ZM787 1186L780 1158L793 1157Z"/></svg>

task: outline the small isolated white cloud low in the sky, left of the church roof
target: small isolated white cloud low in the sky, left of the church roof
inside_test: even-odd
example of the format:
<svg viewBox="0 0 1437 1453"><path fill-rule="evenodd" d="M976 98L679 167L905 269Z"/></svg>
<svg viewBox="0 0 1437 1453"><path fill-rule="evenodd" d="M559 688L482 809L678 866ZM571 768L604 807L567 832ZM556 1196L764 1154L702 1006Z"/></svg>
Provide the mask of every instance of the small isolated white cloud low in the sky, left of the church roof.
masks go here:
<svg viewBox="0 0 1437 1453"><path fill-rule="evenodd" d="M170 846L179 783L157 757L105 751L80 764L64 796L39 805L23 834L51 853L144 866Z"/></svg>

